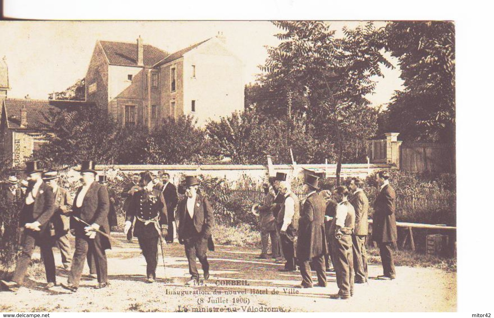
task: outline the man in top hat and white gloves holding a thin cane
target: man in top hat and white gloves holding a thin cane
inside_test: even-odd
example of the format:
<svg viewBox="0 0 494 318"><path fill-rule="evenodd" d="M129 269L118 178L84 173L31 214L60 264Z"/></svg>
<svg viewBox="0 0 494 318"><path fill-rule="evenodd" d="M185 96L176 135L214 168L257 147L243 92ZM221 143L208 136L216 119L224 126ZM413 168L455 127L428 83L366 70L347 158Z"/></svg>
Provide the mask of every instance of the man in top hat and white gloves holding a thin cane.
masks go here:
<svg viewBox="0 0 494 318"><path fill-rule="evenodd" d="M92 253L96 263L98 285L95 288L108 286L108 266L105 249L111 248L110 240L101 232L110 234L108 211L110 201L106 187L95 182L97 172L93 161L81 164L82 186L77 190L72 206L72 228L75 230L76 247L69 279L64 288L73 292L79 288L82 269L87 253Z"/></svg>

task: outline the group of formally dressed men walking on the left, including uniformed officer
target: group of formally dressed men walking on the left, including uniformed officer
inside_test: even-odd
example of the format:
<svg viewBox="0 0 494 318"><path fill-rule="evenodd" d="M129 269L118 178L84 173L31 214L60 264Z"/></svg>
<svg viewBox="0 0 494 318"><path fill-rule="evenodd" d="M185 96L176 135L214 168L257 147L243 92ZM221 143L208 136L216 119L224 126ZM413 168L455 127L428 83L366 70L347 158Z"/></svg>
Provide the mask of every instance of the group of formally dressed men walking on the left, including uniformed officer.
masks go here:
<svg viewBox="0 0 494 318"><path fill-rule="evenodd" d="M108 282L108 262L106 250L111 248L110 226L116 225L115 204L118 198L108 189L106 176L98 176L93 161L81 164L82 186L74 199L58 184L60 177L56 171L43 172L37 161L26 162L26 182L19 183L16 177L7 180L5 196L9 200L20 201L19 226L22 229L20 245L22 250L17 258L15 270L9 281L0 280L2 287L16 291L23 283L31 256L36 246L41 248L46 285L49 289L57 285L53 247L60 248L62 263L69 270L67 283L61 285L76 292L87 261L90 275L98 280L94 288L105 288ZM161 173L161 180L150 172L132 176L130 184L124 187L125 234L138 238L147 265L147 282L156 278L158 241L173 242L174 210L178 196L176 187L169 183L169 175ZM21 190L19 184L24 190ZM185 246L189 260L191 280L199 281L196 257L202 264L204 278L209 278L207 248L213 248L211 235L214 229L214 216L207 199L198 193L199 180L186 177L183 185L184 199L178 204L177 215L179 242ZM2 193L2 196L4 194ZM165 199L167 198L167 199ZM135 223L133 223L135 222ZM133 224L134 230L130 228ZM2 225L3 227L4 225ZM72 254L68 233L75 236L75 249ZM71 255L72 254L72 255Z"/></svg>

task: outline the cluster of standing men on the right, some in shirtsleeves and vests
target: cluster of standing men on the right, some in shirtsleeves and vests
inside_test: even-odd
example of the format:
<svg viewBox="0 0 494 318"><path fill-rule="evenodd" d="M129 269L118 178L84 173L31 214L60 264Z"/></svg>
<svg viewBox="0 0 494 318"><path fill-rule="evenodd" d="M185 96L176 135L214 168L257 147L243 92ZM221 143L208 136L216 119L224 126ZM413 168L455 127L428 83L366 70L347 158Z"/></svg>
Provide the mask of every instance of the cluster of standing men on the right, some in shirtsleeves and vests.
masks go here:
<svg viewBox="0 0 494 318"><path fill-rule="evenodd" d="M396 195L387 172L378 172L376 182L380 192L373 205L372 240L378 244L383 267L383 275L378 279L393 280L396 278L392 256L397 240ZM303 185L305 196L299 202L291 192L286 174L270 177L264 184L265 201L253 207L258 210L261 223L259 258L268 258L271 237L272 256L277 263L285 263L280 271L295 271L298 265L302 282L297 287L314 286L312 266L317 274L317 285L321 287L327 285L326 272L336 272L339 291L330 295L331 298L353 296L354 283L368 281L369 200L363 185L360 178L354 177L348 188L338 186L329 193L319 188L319 177L308 175ZM333 269L329 268L329 259Z"/></svg>

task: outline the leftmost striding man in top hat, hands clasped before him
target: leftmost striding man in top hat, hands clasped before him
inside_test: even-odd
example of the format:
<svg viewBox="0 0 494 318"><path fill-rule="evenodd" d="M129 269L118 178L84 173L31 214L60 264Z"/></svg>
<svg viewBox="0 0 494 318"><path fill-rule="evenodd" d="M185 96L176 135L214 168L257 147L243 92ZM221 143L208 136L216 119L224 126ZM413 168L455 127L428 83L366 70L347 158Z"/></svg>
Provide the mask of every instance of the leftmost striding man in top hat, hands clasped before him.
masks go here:
<svg viewBox="0 0 494 318"><path fill-rule="evenodd" d="M51 250L53 242L48 227L55 212L53 191L43 182L38 161L26 162L25 172L29 181L29 188L20 213L20 224L25 228L21 243L22 252L17 259L12 280L9 282L1 281L10 291L16 291L22 285L35 246L41 247L41 253L44 256L47 286L51 287L56 283L55 260Z"/></svg>

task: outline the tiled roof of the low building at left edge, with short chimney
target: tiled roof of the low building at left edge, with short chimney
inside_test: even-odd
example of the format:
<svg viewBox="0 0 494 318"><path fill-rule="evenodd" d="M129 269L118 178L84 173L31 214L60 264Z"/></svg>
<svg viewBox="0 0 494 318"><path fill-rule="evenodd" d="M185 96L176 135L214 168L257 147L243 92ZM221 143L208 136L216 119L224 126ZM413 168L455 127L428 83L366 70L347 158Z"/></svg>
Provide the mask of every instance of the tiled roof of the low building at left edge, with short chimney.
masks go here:
<svg viewBox="0 0 494 318"><path fill-rule="evenodd" d="M31 100L31 99L12 99L3 100L8 120L8 128L11 129L32 129L33 125L45 122L43 114L50 109L68 109L80 107L95 107L93 102L78 101L57 101L57 100ZM24 106L27 110L28 125L26 128L20 128L21 108Z"/></svg>

